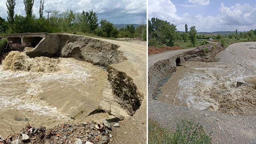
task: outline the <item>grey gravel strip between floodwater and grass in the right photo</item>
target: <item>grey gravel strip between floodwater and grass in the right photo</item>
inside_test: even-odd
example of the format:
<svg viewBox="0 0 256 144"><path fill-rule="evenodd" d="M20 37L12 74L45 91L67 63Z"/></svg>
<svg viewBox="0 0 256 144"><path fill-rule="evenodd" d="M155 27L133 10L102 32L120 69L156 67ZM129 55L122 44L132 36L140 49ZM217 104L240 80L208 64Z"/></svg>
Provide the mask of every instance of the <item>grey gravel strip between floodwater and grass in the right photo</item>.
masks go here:
<svg viewBox="0 0 256 144"><path fill-rule="evenodd" d="M149 100L148 118L173 132L182 120L200 122L208 133L213 131L211 134L213 144L253 144L256 142L256 116L232 116Z"/></svg>

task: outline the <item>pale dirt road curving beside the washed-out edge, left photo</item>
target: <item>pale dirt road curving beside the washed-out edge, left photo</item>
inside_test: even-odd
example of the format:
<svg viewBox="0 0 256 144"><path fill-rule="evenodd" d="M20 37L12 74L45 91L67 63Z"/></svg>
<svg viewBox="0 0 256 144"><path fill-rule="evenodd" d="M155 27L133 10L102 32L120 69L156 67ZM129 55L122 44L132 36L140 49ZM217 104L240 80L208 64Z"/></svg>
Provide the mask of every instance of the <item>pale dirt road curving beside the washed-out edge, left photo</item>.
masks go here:
<svg viewBox="0 0 256 144"><path fill-rule="evenodd" d="M147 46L146 42L115 41L110 39L96 38L102 41L120 45L127 61L111 65L127 73L132 77L140 92L144 94L144 100L140 109L128 120L120 124L120 128L113 130L112 138L115 144L145 144L147 142Z"/></svg>

